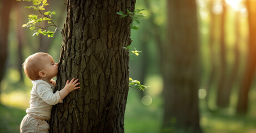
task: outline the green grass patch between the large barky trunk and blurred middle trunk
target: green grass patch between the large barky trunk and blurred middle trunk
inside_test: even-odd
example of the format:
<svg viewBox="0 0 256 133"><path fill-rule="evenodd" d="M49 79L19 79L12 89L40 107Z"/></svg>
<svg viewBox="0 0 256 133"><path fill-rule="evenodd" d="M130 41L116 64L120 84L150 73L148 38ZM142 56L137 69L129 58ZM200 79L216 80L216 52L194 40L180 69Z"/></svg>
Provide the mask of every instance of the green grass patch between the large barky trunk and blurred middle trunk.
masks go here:
<svg viewBox="0 0 256 133"><path fill-rule="evenodd" d="M152 99L152 104L143 105L138 90L129 90L126 114L124 115L124 131L126 133L160 131L163 114L162 99Z"/></svg>

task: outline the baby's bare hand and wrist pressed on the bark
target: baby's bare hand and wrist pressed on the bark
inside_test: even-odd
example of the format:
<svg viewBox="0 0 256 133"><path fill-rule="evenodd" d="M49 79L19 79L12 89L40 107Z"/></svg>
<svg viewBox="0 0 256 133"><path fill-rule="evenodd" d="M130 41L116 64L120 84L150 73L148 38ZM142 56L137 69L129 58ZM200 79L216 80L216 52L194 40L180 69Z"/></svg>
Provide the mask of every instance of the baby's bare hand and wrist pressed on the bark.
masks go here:
<svg viewBox="0 0 256 133"><path fill-rule="evenodd" d="M73 90L80 88L80 86L76 87L77 85L80 84L79 82L77 83L77 81L78 81L78 79L74 80L74 78L70 82L69 82L69 80L67 80L64 88L59 91L59 96L61 96L61 100L63 100Z"/></svg>

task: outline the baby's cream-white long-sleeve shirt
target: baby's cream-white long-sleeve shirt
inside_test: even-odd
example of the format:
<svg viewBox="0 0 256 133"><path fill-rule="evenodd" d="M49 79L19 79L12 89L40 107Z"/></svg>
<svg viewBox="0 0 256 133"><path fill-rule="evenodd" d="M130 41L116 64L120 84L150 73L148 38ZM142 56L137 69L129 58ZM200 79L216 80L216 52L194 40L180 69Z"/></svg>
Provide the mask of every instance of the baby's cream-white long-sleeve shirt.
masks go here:
<svg viewBox="0 0 256 133"><path fill-rule="evenodd" d="M59 91L53 93L53 84L44 80L33 80L33 88L31 90L30 107L26 110L27 114L42 117L50 120L52 105L62 103Z"/></svg>

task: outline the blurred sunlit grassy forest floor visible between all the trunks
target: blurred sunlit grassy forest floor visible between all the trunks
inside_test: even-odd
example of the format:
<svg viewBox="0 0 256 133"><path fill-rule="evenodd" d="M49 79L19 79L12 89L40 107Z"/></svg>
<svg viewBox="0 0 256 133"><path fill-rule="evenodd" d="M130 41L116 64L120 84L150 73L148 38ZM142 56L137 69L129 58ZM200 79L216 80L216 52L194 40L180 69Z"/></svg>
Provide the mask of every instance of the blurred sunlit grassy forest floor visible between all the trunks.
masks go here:
<svg viewBox="0 0 256 133"><path fill-rule="evenodd" d="M146 90L147 91L147 90ZM145 105L140 100L139 91L130 89L124 119L126 133L158 133L160 132L163 117L163 100L159 95L150 95L153 99ZM17 95L23 99L17 100ZM0 104L0 133L19 132L19 124L26 115L29 94L24 91L10 94L1 94ZM149 93L146 93L149 95ZM16 100L15 100L16 99ZM13 100L13 101L12 101ZM12 101L8 103L7 101ZM211 102L211 101L209 101ZM21 103L21 104L18 104ZM26 104L24 104L26 103ZM235 116L234 107L218 111L209 111L205 108L205 100L199 99L200 125L204 133L253 133L256 132L256 90L250 91L249 112L245 116Z"/></svg>

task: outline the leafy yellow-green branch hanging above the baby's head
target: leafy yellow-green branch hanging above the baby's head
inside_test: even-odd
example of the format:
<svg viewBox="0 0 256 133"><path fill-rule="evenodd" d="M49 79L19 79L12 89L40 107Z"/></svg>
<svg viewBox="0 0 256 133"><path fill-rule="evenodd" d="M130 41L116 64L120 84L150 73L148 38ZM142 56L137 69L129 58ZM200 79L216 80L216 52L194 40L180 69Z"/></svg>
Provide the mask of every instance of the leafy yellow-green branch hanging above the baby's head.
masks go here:
<svg viewBox="0 0 256 133"><path fill-rule="evenodd" d="M21 0L17 0L21 1ZM56 32L57 26L52 21L52 15L56 14L54 11L47 11L45 10L44 6L48 6L47 0L22 0L32 2L33 6L26 6L25 8L34 9L40 13L40 15L29 14L28 15L28 23L23 24L22 27L29 27L29 29L34 31L33 35L43 34L47 35L48 37L53 37L54 33ZM43 21L48 21L48 25L44 27L40 27L39 23ZM48 27L56 27L54 31L47 30ZM59 30L59 29L58 29ZM61 30L60 30L61 31Z"/></svg>

